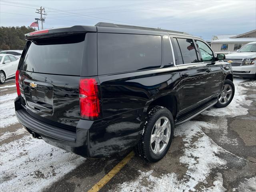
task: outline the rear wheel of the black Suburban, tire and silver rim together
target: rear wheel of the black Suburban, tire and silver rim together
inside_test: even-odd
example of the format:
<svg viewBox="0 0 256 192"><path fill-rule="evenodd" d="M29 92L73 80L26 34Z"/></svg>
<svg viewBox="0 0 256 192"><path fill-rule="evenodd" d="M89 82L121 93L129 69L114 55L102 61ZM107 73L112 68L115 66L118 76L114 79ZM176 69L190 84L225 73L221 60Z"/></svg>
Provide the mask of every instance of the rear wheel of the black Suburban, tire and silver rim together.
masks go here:
<svg viewBox="0 0 256 192"><path fill-rule="evenodd" d="M172 113L165 107L150 108L135 152L148 162L162 159L170 148L174 132Z"/></svg>

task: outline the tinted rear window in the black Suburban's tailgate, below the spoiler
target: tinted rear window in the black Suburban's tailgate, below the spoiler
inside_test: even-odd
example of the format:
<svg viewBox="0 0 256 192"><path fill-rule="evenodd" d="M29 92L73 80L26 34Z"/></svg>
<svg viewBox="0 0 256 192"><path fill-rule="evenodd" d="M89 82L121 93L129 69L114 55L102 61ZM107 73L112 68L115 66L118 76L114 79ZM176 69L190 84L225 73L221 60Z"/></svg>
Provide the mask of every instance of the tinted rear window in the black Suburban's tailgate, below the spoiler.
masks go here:
<svg viewBox="0 0 256 192"><path fill-rule="evenodd" d="M80 76L85 34L33 40L21 70Z"/></svg>

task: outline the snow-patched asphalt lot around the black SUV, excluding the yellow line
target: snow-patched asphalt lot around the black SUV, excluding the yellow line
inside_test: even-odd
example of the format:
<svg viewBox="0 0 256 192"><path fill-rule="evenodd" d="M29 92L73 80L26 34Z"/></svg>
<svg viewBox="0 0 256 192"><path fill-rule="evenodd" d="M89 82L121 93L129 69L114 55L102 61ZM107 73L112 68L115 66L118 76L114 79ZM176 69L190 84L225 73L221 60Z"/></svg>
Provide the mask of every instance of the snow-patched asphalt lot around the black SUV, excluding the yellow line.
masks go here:
<svg viewBox="0 0 256 192"><path fill-rule="evenodd" d="M175 127L162 160L134 156L100 191L256 191L256 81L235 78L234 84L228 107ZM87 160L34 139L16 120L15 97L13 79L0 85L1 191L85 192L131 152Z"/></svg>

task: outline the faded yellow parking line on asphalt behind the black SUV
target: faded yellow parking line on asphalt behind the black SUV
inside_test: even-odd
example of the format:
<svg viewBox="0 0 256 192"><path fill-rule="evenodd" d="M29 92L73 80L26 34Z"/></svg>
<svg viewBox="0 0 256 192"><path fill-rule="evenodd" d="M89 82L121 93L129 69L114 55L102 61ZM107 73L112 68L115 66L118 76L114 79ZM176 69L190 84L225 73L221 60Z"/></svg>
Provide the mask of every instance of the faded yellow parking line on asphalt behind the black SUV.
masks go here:
<svg viewBox="0 0 256 192"><path fill-rule="evenodd" d="M98 192L114 177L132 158L134 152L130 152L122 161L120 161L108 174L106 174L98 183L96 183L88 192Z"/></svg>

